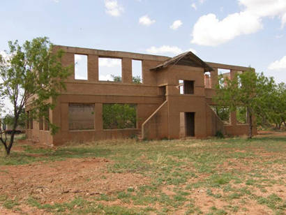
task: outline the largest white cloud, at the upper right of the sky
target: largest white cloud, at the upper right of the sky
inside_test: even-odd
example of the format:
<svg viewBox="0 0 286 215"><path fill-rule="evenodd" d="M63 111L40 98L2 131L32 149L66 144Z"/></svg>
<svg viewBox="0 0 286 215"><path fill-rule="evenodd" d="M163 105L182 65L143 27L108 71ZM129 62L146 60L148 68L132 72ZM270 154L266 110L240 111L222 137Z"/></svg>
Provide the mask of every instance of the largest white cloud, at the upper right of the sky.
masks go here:
<svg viewBox="0 0 286 215"><path fill-rule="evenodd" d="M263 17L280 17L286 24L285 0L238 0L243 6L239 13L218 20L215 14L203 15L193 28L192 43L216 46L243 34L253 34L263 28Z"/></svg>

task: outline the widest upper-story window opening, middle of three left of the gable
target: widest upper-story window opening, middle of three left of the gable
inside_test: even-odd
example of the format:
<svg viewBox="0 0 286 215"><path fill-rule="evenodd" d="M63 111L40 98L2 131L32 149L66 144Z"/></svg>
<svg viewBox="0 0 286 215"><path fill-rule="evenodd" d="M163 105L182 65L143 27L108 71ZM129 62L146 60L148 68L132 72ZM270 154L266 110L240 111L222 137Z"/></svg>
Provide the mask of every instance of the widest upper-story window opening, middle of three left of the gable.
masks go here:
<svg viewBox="0 0 286 215"><path fill-rule="evenodd" d="M122 64L121 59L99 57L98 58L98 80L121 82Z"/></svg>

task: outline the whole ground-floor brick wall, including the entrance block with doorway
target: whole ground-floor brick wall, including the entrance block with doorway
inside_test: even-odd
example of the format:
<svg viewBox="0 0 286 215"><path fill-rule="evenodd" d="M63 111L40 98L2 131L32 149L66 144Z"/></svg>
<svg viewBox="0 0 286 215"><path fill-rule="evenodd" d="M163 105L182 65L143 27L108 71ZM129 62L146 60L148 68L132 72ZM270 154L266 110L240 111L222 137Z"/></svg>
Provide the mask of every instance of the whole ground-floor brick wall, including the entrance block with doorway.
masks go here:
<svg viewBox="0 0 286 215"><path fill-rule="evenodd" d="M69 104L71 103L93 104L93 129L70 130ZM105 103L135 104L137 110L136 128L103 129L103 104ZM186 136L186 113L193 114L193 136L195 138L214 136L218 131L226 135L248 134L248 124L223 125L203 96L179 95L163 98L163 96L62 95L58 98L57 105L50 114L52 123L59 126L58 133L51 135L50 131L40 130L38 122L33 121L33 129L27 129L27 137L35 142L55 145L73 141L89 142L133 138L140 134L142 138L146 139L177 139ZM142 129L142 124L144 124L144 129ZM142 131L143 133L141 133ZM253 133L256 133L256 128L253 128Z"/></svg>

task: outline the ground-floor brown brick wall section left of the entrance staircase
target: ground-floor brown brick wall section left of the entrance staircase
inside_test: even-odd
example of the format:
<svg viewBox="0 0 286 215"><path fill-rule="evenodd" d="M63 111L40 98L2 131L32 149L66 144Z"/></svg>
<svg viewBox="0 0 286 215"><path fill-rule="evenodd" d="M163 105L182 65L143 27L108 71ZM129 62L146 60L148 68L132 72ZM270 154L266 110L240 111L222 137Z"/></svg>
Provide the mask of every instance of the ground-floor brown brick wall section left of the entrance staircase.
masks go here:
<svg viewBox="0 0 286 215"><path fill-rule="evenodd" d="M55 145L65 142L88 142L93 140L133 138L140 134L142 123L163 103L163 96L91 96L61 95L52 110L52 122L59 126L59 132L52 137ZM103 129L103 104L134 104L137 112L136 128ZM94 128L91 130L70 130L69 105L93 104ZM33 139L36 138L36 134Z"/></svg>

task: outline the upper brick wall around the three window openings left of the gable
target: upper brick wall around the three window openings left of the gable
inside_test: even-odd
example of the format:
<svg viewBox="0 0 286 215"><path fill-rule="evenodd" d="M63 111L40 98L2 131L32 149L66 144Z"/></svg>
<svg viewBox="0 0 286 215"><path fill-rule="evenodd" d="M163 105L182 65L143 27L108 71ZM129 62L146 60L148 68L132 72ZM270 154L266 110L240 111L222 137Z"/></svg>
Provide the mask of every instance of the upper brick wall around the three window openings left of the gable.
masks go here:
<svg viewBox="0 0 286 215"><path fill-rule="evenodd" d="M142 61L142 84L156 85L156 74L150 71L150 68L157 66L169 57L156 56L151 54L137 54L132 52L117 52L105 50L92 50L80 47L66 47L56 45L55 49L61 49L64 54L62 59L63 66L72 65L72 75L68 77L68 82L78 83L111 83L112 81L99 80L99 58L121 59L121 84L133 84L132 60ZM87 56L87 80L75 79L75 54Z"/></svg>

